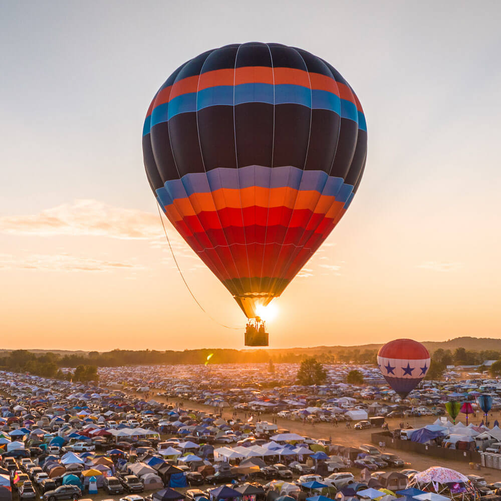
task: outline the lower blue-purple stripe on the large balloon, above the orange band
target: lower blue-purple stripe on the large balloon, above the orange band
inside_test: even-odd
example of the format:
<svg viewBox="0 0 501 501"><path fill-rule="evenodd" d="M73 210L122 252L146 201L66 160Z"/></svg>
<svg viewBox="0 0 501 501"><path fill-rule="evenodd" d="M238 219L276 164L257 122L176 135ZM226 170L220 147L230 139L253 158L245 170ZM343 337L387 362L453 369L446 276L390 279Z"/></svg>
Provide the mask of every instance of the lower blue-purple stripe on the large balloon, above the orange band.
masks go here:
<svg viewBox="0 0 501 501"><path fill-rule="evenodd" d="M193 193L210 193L217 189L243 189L253 186L263 188L291 187L301 191L318 191L322 195L335 196L346 202L353 186L345 184L340 177L328 176L324 171L302 171L297 167L264 167L249 165L239 169L219 167L204 172L185 174L181 179L172 179L158 188L157 195L162 201L185 198ZM166 203L166 205L168 204Z"/></svg>

